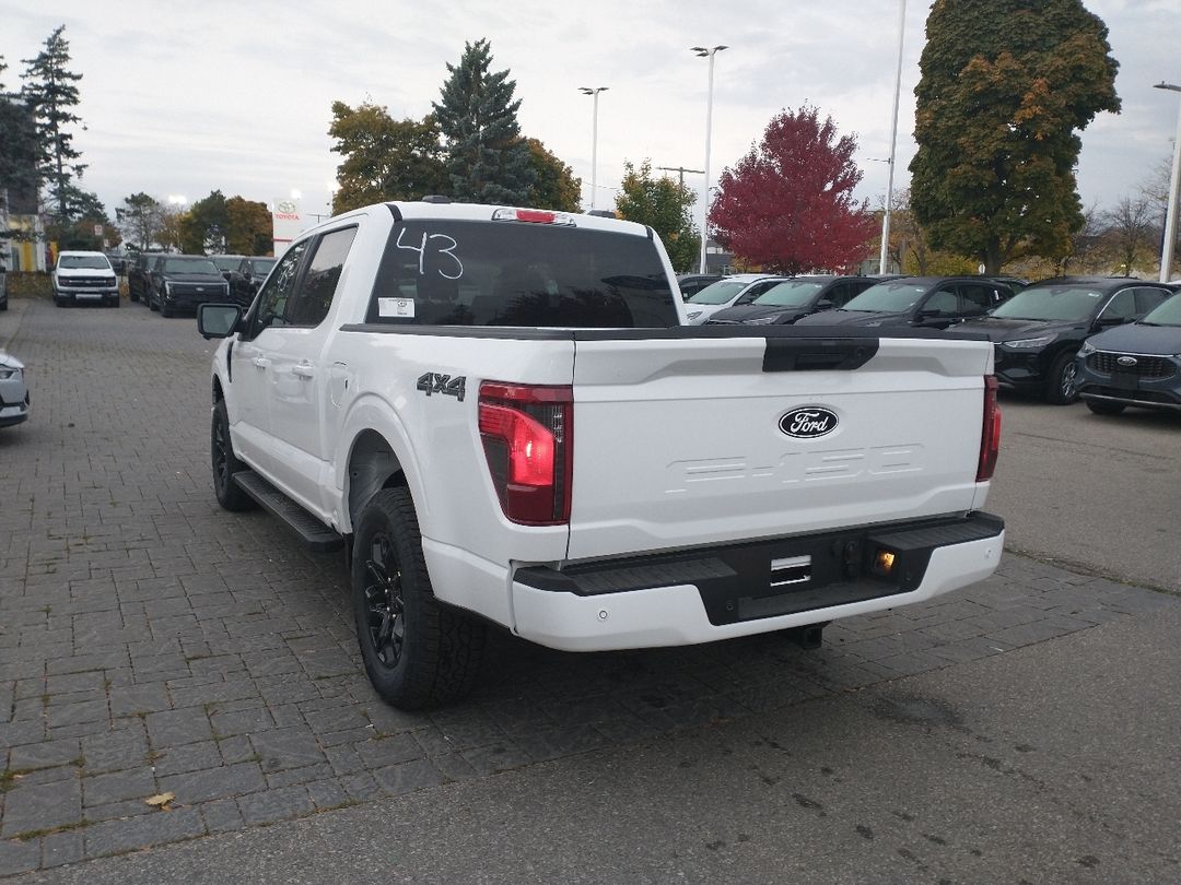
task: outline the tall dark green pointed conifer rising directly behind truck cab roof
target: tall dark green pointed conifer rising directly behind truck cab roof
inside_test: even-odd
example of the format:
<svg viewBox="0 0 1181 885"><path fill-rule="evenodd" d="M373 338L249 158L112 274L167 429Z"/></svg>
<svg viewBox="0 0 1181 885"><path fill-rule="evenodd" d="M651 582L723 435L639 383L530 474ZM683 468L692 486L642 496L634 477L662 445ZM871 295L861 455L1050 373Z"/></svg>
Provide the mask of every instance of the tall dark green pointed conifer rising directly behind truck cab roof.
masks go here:
<svg viewBox="0 0 1181 885"><path fill-rule="evenodd" d="M529 148L521 138L513 100L516 80L490 73L488 40L464 44L458 65L449 64L435 117L446 143L451 197L469 203L529 202L534 184Z"/></svg>

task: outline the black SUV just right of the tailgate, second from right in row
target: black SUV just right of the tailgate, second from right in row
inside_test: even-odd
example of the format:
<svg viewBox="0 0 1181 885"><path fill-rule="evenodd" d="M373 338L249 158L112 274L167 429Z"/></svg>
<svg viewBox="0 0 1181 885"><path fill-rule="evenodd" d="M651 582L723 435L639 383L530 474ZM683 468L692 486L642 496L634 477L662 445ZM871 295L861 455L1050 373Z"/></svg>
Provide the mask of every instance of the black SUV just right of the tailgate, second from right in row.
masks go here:
<svg viewBox="0 0 1181 885"><path fill-rule="evenodd" d="M1173 294L1127 276L1042 280L963 329L996 343L997 381L1064 406L1078 398L1075 355L1088 335L1138 320Z"/></svg>

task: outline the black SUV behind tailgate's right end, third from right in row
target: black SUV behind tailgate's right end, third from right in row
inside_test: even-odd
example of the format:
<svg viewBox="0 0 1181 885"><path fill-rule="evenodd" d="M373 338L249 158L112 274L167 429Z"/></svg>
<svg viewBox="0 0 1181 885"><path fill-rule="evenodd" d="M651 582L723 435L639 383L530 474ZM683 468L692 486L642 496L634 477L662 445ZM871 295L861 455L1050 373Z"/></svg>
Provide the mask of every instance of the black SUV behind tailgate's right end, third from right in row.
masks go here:
<svg viewBox="0 0 1181 885"><path fill-rule="evenodd" d="M836 310L813 314L800 326L920 326L946 329L983 316L1013 295L1004 283L972 276L902 276L870 286Z"/></svg>

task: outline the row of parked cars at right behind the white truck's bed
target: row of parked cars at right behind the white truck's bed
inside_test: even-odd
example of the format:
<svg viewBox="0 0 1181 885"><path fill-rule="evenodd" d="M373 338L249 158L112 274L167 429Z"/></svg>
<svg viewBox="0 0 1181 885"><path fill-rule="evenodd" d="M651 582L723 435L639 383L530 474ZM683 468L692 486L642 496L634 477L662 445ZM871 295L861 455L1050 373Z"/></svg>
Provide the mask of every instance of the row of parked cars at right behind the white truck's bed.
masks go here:
<svg viewBox="0 0 1181 885"><path fill-rule="evenodd" d="M692 280L690 284L692 284ZM1181 287L1131 277L736 274L686 299L693 324L948 328L987 336L1001 387L1092 412L1181 409ZM1120 327L1118 329L1114 327Z"/></svg>

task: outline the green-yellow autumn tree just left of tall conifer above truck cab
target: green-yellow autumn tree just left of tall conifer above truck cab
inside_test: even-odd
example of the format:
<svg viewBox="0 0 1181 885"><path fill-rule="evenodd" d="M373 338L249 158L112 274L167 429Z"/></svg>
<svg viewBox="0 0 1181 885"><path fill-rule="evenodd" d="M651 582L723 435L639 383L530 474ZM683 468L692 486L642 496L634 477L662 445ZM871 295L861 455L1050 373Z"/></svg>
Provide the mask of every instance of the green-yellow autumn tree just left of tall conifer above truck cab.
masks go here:
<svg viewBox="0 0 1181 885"><path fill-rule="evenodd" d="M396 120L374 104L350 107L333 101L328 135L337 139L332 150L344 157L337 166L333 212L450 190L439 127L431 116Z"/></svg>

